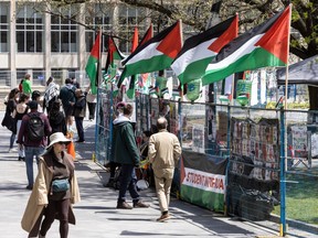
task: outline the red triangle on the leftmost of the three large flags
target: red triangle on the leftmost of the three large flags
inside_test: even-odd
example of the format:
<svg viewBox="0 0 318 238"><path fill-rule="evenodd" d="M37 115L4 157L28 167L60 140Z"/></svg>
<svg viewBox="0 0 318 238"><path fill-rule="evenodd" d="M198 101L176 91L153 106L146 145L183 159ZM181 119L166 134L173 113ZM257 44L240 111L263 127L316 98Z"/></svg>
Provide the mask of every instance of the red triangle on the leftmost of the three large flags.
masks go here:
<svg viewBox="0 0 318 238"><path fill-rule="evenodd" d="M180 21L178 21L176 26L166 35L166 37L157 46L157 51L162 52L165 55L171 58L176 58L181 47L182 47L181 26Z"/></svg>

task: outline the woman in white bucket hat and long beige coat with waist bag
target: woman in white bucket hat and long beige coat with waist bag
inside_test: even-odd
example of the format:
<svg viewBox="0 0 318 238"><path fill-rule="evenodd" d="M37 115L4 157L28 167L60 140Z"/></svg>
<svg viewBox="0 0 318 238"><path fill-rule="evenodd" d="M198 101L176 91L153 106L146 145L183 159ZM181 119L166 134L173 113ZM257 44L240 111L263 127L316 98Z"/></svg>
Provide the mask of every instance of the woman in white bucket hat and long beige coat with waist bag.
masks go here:
<svg viewBox="0 0 318 238"><path fill-rule="evenodd" d="M54 219L59 217L60 237L67 238L68 223L75 225L72 204L81 202L80 188L73 158L65 152L65 145L71 140L62 132L56 132L51 134L50 141L44 154L40 156L39 173L21 226L29 232L29 237L39 235L45 238Z"/></svg>

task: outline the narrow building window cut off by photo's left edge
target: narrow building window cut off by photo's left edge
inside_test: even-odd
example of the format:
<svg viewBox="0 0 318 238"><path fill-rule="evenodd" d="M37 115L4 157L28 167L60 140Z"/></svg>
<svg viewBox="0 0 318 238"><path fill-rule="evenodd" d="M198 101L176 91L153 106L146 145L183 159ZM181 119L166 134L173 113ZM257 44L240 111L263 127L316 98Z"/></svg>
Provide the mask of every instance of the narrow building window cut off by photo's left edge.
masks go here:
<svg viewBox="0 0 318 238"><path fill-rule="evenodd" d="M0 2L0 52L9 47L9 4Z"/></svg>

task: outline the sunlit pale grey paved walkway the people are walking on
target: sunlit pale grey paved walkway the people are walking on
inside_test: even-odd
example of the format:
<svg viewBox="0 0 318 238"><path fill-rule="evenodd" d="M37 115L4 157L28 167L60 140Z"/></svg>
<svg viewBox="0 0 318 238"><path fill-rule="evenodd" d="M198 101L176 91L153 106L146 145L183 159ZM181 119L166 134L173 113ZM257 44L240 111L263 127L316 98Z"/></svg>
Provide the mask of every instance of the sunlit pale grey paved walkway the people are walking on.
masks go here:
<svg viewBox="0 0 318 238"><path fill-rule="evenodd" d="M3 111L0 112L3 118ZM70 225L70 238L106 238L106 237L182 237L182 238L269 238L277 237L277 231L242 221L222 214L193 206L171 198L172 219L157 223L159 206L151 190L142 191L141 196L150 208L131 210L116 209L118 191L103 187L108 174L92 161L94 152L94 121L85 119L86 143L76 144L78 178L82 202L74 206L76 226ZM10 132L0 127L0 237L24 238L20 220L28 202L26 175L23 162L18 161L17 152L8 153ZM76 134L75 134L76 138ZM35 174L38 173L34 163ZM129 198L129 195L128 195ZM277 225L275 225L277 228ZM288 237L318 237L299 230L289 230ZM294 236L295 234L295 236ZM59 221L55 220L49 230L47 238L59 238Z"/></svg>

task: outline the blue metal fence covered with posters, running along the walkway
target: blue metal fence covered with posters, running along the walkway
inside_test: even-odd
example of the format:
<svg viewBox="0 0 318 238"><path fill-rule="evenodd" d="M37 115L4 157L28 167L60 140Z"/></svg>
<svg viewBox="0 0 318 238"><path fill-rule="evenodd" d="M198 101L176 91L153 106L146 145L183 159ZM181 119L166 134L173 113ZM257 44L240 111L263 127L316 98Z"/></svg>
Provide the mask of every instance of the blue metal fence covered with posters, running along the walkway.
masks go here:
<svg viewBox="0 0 318 238"><path fill-rule="evenodd" d="M112 159L115 98L112 90L99 90L96 133L99 163ZM312 225L317 232L317 111L183 102L148 95L137 96L135 102L137 142L144 130L153 130L157 118L161 116L167 118L169 131L179 137L183 155L188 153L190 161L200 159L203 163L212 160L213 163L206 166L215 167L220 165L218 163L227 161L223 209L220 209L220 191L219 195L209 198L210 203L214 203L219 196L218 206L206 205L205 201L201 204L198 197L187 201L192 199L195 204L262 225L264 220L276 220L277 225L271 228L279 230L280 236L288 234L287 224L298 228L301 224L304 229ZM193 166L191 171L194 170L194 174L198 172L195 176L200 181L211 174L211 181L223 176L221 172L218 174L204 171L206 167ZM181 198L187 170L189 167L180 164L176 172L177 184L181 184L181 188L178 187ZM199 188L195 184L187 186L206 196L205 192L211 187L204 188L204 183L200 183ZM178 194L180 191L177 191Z"/></svg>

